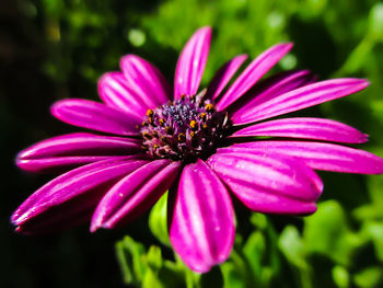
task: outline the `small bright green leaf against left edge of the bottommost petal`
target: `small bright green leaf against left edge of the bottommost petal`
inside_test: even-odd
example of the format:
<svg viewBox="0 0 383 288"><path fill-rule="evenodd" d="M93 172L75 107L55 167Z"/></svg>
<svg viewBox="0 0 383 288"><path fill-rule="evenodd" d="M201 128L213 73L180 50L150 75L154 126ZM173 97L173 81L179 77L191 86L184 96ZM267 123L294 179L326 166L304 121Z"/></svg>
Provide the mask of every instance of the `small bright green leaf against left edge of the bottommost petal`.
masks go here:
<svg viewBox="0 0 383 288"><path fill-rule="evenodd" d="M171 246L167 233L167 192L162 195L150 211L149 228L161 243Z"/></svg>

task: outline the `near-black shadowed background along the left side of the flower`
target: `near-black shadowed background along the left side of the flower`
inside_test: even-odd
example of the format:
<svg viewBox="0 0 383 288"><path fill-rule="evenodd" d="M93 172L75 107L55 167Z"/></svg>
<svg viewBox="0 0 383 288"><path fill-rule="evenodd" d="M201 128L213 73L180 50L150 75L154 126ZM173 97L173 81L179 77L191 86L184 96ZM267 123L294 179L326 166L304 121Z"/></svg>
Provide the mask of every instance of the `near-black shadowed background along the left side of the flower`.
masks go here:
<svg viewBox="0 0 383 288"><path fill-rule="evenodd" d="M123 11L137 11L140 7L139 1L126 2L129 3L119 4L116 1L116 5L123 5ZM146 4L148 9L151 2L147 1ZM36 8L43 9L39 2L36 3ZM51 103L69 94L74 97L96 96L96 85L76 72L68 74L66 71L59 71L54 77L47 76L44 64L47 59L55 58L53 54L58 54L58 61L72 55L79 58L88 57L89 47L78 44L70 55L59 55L59 47L55 47L56 44L46 37L46 21L40 14L34 19L28 18L23 13L20 1L1 2L0 286L123 287L114 243L126 233L142 241L155 241L146 220L142 220L142 223L134 223L124 231L102 231L96 237L89 232L86 226L60 234L23 237L13 232L9 221L10 215L23 199L51 178L51 175L35 175L18 170L14 165L16 153L35 141L71 130L50 116ZM118 34L119 28L118 24L115 25L114 33ZM86 34L92 33L89 31ZM117 50L112 65L118 60L120 50L131 50L128 42L111 43L107 47ZM76 58L71 61L76 61ZM66 69L66 65L68 64L58 64L58 69ZM96 65L96 68L104 71L105 66L108 66L100 62Z"/></svg>

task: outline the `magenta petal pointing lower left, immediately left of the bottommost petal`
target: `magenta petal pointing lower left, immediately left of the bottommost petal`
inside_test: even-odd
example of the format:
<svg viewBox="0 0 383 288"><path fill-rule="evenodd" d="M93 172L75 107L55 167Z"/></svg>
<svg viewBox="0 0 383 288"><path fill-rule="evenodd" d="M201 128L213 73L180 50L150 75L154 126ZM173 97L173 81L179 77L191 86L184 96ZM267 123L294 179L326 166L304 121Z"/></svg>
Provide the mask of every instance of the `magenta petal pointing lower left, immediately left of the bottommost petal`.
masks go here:
<svg viewBox="0 0 383 288"><path fill-rule="evenodd" d="M119 181L100 201L91 231L127 223L147 211L173 184L181 168L181 162L155 160Z"/></svg>

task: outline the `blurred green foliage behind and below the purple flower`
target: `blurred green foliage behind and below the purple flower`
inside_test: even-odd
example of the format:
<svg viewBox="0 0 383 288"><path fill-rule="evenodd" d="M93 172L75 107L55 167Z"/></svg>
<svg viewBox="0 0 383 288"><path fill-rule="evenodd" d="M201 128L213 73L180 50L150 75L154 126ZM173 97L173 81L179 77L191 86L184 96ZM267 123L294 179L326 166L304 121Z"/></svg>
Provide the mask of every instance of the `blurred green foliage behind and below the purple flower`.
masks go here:
<svg viewBox="0 0 383 288"><path fill-rule="evenodd" d="M172 81L177 55L192 33L213 27L202 83L230 57L256 57L283 41L293 50L274 69L307 68L320 79L362 77L364 92L309 113L370 134L363 148L383 155L383 2L374 0L20 0L40 32L40 69L55 99L96 99L96 80L118 69L124 54L156 65ZM383 287L383 176L322 173L318 210L306 218L248 215L237 209L229 261L206 275L188 270L169 247L165 203L146 245L126 237L116 245L127 285L142 287ZM146 224L146 223L143 223Z"/></svg>

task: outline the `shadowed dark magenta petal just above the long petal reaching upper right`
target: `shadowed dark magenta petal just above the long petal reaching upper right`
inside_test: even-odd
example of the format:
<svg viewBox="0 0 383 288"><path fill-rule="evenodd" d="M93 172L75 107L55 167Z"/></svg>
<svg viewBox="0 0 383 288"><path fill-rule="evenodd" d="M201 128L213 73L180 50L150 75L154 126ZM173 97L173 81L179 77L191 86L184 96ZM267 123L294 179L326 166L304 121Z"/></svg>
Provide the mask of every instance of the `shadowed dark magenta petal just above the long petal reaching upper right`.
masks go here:
<svg viewBox="0 0 383 288"><path fill-rule="evenodd" d="M248 91L248 96L242 97L230 107L230 111L234 112L231 120L236 125L252 123L254 122L253 110L256 110L258 105L289 91L313 83L316 77L307 70L285 71L267 78L255 85L254 91Z"/></svg>

